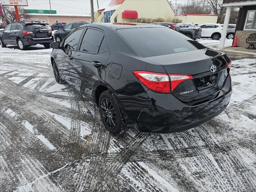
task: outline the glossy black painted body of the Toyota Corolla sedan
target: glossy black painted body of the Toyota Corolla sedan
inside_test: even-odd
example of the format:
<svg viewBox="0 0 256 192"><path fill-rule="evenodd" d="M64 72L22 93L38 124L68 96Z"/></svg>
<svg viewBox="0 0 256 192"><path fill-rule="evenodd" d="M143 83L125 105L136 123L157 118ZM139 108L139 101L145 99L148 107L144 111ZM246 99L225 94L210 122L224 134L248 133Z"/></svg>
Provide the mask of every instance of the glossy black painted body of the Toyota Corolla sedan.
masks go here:
<svg viewBox="0 0 256 192"><path fill-rule="evenodd" d="M178 48L175 49L177 53L169 54L167 50L164 55L159 55L153 50L156 54L153 56L147 56L150 50L143 50L146 54L142 56L138 54L140 46L134 46L128 37L130 35L135 38L130 32L137 29L143 31L143 28L146 28L145 31L150 31L151 28L165 30L163 26L146 24L86 24L78 28L83 31L74 50L66 50L64 44L65 40L73 33L78 33L78 30L70 33L60 43L61 48L52 51L51 57L60 68L62 78L82 94L92 97L96 104L98 93L102 89L110 90L119 101L126 123L136 123L140 130L146 132L183 131L198 126L222 112L228 105L232 92L230 69L226 68L230 61L228 56L168 29L167 33L172 33L170 37L177 39L181 45L188 42L188 48L191 47L191 50ZM95 37L97 40L104 36L102 42L106 40L104 47L107 48L101 50L101 43L101 51L97 53L80 50L83 37L89 30L97 31L94 31L94 34L99 34L99 38ZM145 33L143 35L146 36ZM143 39L142 41L144 42ZM174 39L170 40L172 41ZM136 42L135 40L133 43ZM150 39L146 43L155 46L156 42ZM176 42L173 42L173 45L175 44ZM217 68L214 73L210 72L213 65ZM142 84L132 73L134 71L189 74L193 79L180 83L171 93L162 94ZM204 83L200 83L201 77L204 78ZM193 92L180 94L190 87Z"/></svg>

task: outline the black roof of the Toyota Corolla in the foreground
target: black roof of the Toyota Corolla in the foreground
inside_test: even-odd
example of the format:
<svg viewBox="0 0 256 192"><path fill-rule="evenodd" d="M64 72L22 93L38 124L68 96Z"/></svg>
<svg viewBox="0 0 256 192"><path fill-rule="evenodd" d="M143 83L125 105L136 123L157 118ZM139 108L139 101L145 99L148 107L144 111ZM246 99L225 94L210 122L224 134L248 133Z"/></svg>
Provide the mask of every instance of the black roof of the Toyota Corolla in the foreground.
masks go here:
<svg viewBox="0 0 256 192"><path fill-rule="evenodd" d="M154 24L147 24L147 23L96 23L91 22L88 24L81 25L80 27L107 27L112 29L125 29L125 28L147 28L147 27L154 27L154 28L165 28L164 26L154 25Z"/></svg>

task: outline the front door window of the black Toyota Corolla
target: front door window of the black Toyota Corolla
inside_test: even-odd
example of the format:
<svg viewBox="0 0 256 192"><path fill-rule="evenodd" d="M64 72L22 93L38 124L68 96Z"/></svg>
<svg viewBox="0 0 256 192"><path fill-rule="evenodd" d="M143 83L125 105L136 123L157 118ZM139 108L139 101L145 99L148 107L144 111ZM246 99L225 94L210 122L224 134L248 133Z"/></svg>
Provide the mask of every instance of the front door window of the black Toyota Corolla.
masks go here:
<svg viewBox="0 0 256 192"><path fill-rule="evenodd" d="M64 49L76 50L79 38L82 35L83 29L78 29L74 31L70 36L65 39L63 44Z"/></svg>

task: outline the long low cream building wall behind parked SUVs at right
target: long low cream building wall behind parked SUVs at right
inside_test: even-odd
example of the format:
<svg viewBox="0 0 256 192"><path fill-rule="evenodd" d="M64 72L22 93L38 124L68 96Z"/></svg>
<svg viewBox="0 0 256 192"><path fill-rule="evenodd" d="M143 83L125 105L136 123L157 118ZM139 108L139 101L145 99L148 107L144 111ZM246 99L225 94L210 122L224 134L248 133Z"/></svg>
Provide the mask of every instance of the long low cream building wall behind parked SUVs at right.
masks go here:
<svg viewBox="0 0 256 192"><path fill-rule="evenodd" d="M218 16L215 15L176 15L183 23L194 23L202 25L205 23L217 23Z"/></svg>

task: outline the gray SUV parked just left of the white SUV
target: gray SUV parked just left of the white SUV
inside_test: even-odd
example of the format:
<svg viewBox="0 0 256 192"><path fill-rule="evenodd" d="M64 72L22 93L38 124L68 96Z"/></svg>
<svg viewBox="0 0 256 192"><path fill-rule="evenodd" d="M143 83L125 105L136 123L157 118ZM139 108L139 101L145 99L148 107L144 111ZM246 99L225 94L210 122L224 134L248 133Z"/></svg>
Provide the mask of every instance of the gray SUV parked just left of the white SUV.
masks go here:
<svg viewBox="0 0 256 192"><path fill-rule="evenodd" d="M196 27L194 24L178 23L178 25L180 26L180 32L188 36L189 38L194 40L201 38L202 29Z"/></svg>

